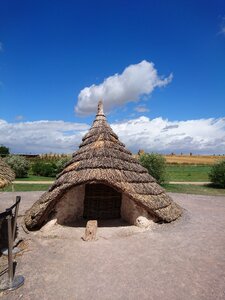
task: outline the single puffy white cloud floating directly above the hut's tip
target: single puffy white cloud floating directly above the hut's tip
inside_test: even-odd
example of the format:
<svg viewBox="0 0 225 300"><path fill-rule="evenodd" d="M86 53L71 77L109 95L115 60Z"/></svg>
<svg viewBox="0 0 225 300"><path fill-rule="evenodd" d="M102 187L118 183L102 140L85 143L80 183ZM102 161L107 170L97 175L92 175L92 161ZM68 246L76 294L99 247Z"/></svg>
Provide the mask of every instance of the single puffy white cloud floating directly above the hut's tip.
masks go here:
<svg viewBox="0 0 225 300"><path fill-rule="evenodd" d="M83 115L94 113L100 99L104 101L105 110L109 111L127 102L138 101L141 96L150 95L156 87L165 86L171 80L172 74L162 78L152 62L143 60L128 66L122 74L106 78L99 85L85 87L78 95L75 111Z"/></svg>

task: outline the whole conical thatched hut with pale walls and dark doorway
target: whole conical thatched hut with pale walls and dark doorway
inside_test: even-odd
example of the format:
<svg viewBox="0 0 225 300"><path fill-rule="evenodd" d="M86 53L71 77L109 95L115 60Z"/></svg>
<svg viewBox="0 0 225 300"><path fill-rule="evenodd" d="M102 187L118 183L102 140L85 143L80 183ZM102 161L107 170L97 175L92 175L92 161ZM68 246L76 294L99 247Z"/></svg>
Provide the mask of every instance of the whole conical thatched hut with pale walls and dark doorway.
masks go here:
<svg viewBox="0 0 225 300"><path fill-rule="evenodd" d="M135 224L139 216L171 222L181 208L132 157L106 121L102 102L79 150L56 181L26 212L29 230L51 218L69 224L79 218L122 217Z"/></svg>

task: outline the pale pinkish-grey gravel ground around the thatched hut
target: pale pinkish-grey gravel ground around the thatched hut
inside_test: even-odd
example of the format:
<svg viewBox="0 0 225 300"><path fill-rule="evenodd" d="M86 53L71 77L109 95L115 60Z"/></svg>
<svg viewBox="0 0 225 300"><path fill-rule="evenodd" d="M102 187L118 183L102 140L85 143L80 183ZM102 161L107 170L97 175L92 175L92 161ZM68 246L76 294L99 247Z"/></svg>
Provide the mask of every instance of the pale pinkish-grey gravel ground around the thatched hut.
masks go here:
<svg viewBox="0 0 225 300"><path fill-rule="evenodd" d="M0 211L12 204L0 194ZM20 221L41 192L21 192ZM26 234L16 257L25 284L3 299L225 299L225 197L171 194L184 209L171 224L140 232L126 224ZM2 258L0 258L2 259Z"/></svg>

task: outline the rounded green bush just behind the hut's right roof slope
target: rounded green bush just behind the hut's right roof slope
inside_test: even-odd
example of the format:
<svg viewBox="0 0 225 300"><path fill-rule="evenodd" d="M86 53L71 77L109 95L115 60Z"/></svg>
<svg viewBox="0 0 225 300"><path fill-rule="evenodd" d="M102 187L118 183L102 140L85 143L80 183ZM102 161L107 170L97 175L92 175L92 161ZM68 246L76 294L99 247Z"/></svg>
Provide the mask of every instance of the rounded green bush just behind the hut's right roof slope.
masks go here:
<svg viewBox="0 0 225 300"><path fill-rule="evenodd" d="M163 183L166 180L166 159L162 155L144 153L140 155L139 161L158 183Z"/></svg>

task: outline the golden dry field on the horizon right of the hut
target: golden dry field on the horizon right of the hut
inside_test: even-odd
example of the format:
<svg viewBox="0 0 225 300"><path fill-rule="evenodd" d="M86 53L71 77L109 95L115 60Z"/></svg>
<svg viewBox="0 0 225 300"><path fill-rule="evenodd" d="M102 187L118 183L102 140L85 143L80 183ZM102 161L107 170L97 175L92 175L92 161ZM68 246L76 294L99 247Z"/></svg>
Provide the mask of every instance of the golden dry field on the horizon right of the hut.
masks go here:
<svg viewBox="0 0 225 300"><path fill-rule="evenodd" d="M214 155L164 155L168 164L212 165L225 156Z"/></svg>

